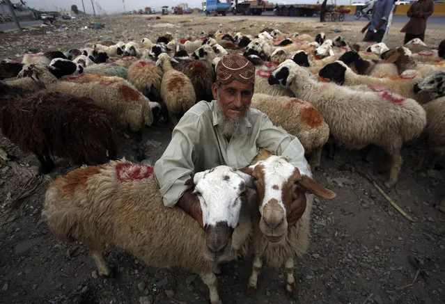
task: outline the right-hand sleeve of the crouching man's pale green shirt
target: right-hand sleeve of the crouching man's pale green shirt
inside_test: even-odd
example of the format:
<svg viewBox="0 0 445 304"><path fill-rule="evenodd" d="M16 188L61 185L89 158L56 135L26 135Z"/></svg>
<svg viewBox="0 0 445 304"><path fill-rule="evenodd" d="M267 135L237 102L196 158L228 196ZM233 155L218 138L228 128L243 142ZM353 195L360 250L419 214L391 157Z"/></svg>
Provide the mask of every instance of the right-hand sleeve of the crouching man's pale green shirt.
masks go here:
<svg viewBox="0 0 445 304"><path fill-rule="evenodd" d="M297 137L288 134L272 124L263 114L260 134L256 144L272 154L286 157L300 173L312 176L309 163L304 158L304 147Z"/></svg>

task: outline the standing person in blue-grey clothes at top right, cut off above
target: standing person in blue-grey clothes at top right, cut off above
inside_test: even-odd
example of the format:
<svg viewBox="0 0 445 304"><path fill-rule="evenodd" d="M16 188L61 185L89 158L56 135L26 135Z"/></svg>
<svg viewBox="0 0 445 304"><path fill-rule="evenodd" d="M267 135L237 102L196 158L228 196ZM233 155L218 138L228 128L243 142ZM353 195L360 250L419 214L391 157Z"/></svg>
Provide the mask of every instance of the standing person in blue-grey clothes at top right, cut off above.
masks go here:
<svg viewBox="0 0 445 304"><path fill-rule="evenodd" d="M361 29L361 33L368 30L363 38L364 42L382 42L384 33L387 31L388 18L394 2L395 0L377 0L373 9L373 17L371 17L370 22Z"/></svg>

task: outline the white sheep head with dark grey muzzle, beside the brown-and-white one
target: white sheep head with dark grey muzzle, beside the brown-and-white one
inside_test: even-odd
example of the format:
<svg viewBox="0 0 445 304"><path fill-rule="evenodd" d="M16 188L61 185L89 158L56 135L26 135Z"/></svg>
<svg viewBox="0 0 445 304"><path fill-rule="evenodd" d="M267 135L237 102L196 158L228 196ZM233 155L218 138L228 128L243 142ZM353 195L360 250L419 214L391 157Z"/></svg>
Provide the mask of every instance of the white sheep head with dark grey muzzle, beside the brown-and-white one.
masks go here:
<svg viewBox="0 0 445 304"><path fill-rule="evenodd" d="M204 255L223 259L231 250L231 237L238 225L242 195L253 186L252 177L228 166L217 166L193 177L194 193L203 211L205 227Z"/></svg>

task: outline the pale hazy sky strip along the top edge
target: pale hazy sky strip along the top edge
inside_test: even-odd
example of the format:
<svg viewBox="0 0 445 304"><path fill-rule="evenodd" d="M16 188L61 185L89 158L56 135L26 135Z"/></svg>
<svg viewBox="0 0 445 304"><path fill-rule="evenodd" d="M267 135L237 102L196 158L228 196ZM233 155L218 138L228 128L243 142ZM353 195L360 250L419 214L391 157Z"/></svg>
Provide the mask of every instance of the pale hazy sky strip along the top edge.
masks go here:
<svg viewBox="0 0 445 304"><path fill-rule="evenodd" d="M225 0L222 0L225 1ZM357 1L357 0L354 0ZM13 0L13 3L18 2L17 0ZM123 3L122 0L93 0L94 3L99 3L99 6L102 7L102 9L106 13L116 13L116 12L123 12ZM201 0L161 0L161 1L155 1L155 0L125 0L125 10L139 10L140 8L145 8L146 6L150 6L151 8L154 8L155 10L159 11L161 6L175 6L178 3L188 3L189 8L195 8L200 7L201 8ZM272 1L274 3L279 2L285 2L285 3L317 3L317 0L276 0ZM320 3L322 0L320 0ZM76 4L79 10L82 9L82 1L81 0L28 0L27 1L28 6L31 6L33 8L43 8L45 10L55 10L56 7L60 10L60 8L63 9L69 9L72 4ZM331 0L328 0L328 3L331 3ZM337 4L349 4L350 0L337 0ZM93 8L91 8L91 0L84 0L85 10L86 13L93 13ZM96 6L95 6L95 9Z"/></svg>

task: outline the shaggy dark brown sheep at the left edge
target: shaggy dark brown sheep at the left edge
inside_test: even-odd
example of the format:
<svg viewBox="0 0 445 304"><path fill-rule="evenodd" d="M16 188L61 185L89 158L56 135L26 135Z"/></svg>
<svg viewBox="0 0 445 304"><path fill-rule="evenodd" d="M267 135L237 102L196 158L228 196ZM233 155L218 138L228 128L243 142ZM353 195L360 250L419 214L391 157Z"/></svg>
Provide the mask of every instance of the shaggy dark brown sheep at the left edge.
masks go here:
<svg viewBox="0 0 445 304"><path fill-rule="evenodd" d="M50 155L78 166L116 157L118 137L107 111L87 97L45 92L13 98L0 111L3 135L40 161L40 174L54 168Z"/></svg>

